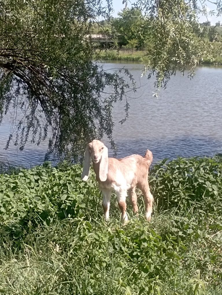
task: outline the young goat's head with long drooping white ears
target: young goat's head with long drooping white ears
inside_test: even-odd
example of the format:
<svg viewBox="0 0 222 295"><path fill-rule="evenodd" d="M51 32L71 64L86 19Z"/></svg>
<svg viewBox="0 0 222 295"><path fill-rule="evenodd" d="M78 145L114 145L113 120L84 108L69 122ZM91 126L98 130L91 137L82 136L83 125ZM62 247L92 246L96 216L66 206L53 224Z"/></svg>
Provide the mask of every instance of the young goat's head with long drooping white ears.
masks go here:
<svg viewBox="0 0 222 295"><path fill-rule="evenodd" d="M106 181L108 173L108 149L100 140L94 139L88 144L85 150L85 160L81 176L84 181L89 177L90 157L95 164L99 163L99 179Z"/></svg>

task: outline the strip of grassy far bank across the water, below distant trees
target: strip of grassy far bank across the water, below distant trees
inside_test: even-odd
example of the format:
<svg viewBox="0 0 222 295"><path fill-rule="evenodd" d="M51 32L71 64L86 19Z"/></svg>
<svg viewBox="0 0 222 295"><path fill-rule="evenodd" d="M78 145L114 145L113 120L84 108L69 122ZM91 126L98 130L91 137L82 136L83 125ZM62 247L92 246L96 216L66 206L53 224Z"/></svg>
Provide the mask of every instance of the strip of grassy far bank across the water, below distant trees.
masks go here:
<svg viewBox="0 0 222 295"><path fill-rule="evenodd" d="M117 50L104 50L98 51L98 59L101 60L123 60L123 61L138 61L142 63L151 64L151 57L147 51L117 51ZM217 64L222 65L222 56L218 55L214 60L209 60L206 56L203 56L203 60L200 64Z"/></svg>

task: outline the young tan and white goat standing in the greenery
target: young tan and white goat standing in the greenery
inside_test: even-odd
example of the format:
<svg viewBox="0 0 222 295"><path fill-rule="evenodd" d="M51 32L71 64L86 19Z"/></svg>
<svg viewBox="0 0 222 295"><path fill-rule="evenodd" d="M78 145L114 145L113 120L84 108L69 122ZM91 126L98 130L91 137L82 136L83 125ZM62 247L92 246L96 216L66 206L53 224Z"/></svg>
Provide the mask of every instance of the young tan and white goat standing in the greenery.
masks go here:
<svg viewBox="0 0 222 295"><path fill-rule="evenodd" d="M131 155L122 159L108 158L108 149L100 140L90 142L85 150L85 159L81 178L87 181L89 177L90 157L96 173L99 189L103 194L103 211L106 220L109 218L111 192L116 191L118 205L121 211L121 222L126 222L126 196L129 198L134 213L138 213L136 186L142 191L145 201L145 218L151 220L153 196L149 190L148 172L153 155L146 151L145 157Z"/></svg>

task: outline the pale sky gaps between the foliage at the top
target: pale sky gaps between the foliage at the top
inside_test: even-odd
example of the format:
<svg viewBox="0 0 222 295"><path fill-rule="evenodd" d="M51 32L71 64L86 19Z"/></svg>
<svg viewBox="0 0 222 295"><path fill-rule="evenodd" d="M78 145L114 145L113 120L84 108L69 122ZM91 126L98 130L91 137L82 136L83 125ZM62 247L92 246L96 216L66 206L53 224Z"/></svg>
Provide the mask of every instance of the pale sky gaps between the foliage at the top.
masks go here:
<svg viewBox="0 0 222 295"><path fill-rule="evenodd" d="M113 17L117 17L118 15L118 12L121 11L121 9L123 9L125 7L125 4L122 4L122 0L113 0L113 9L114 9L114 13L112 14ZM131 1L132 3L134 1ZM216 11L216 6L209 2L209 1L206 1L206 4L207 6L207 11L210 12L211 10L214 10ZM128 7L130 7L131 4L128 0ZM199 22L202 23L202 22L206 22L207 19L205 16L202 16L202 15L199 15ZM208 21L211 22L211 25L214 25L216 22L220 21L222 22L222 16L221 17L216 17L215 15L211 16L211 15L208 15Z"/></svg>

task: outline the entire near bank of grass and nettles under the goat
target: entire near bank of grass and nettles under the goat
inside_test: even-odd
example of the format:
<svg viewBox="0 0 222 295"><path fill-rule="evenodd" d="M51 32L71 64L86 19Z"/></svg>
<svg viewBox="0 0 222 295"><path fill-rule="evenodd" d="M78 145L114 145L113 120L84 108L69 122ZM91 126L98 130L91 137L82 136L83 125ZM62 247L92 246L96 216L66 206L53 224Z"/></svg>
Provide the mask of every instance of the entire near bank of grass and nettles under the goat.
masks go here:
<svg viewBox="0 0 222 295"><path fill-rule="evenodd" d="M102 218L94 175L49 165L0 176L0 293L221 295L222 159L155 165L151 222Z"/></svg>

